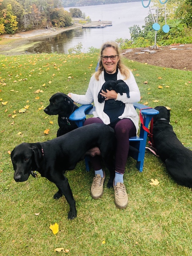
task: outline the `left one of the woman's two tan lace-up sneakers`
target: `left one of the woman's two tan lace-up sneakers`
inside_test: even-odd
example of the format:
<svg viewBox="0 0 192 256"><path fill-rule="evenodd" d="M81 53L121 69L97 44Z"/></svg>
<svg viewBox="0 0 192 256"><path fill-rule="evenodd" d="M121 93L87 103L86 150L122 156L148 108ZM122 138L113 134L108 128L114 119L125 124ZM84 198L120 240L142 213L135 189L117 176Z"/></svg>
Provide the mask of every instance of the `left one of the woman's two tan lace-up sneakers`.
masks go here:
<svg viewBox="0 0 192 256"><path fill-rule="evenodd" d="M96 176L93 178L93 182L91 185L92 198L98 199L102 197L104 180L105 180L105 173L104 173L104 178L101 178L100 174L96 174Z"/></svg>

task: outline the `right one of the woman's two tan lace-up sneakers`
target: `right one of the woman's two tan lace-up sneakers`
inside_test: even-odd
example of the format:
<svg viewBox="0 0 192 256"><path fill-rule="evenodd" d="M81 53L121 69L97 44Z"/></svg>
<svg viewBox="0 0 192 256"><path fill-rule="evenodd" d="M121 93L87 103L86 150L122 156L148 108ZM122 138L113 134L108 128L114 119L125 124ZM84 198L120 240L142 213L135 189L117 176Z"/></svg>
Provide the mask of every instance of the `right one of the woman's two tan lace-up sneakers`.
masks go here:
<svg viewBox="0 0 192 256"><path fill-rule="evenodd" d="M115 192L115 205L120 209L126 208L128 205L128 196L125 185L121 182L117 182L117 185L113 185L113 187Z"/></svg>

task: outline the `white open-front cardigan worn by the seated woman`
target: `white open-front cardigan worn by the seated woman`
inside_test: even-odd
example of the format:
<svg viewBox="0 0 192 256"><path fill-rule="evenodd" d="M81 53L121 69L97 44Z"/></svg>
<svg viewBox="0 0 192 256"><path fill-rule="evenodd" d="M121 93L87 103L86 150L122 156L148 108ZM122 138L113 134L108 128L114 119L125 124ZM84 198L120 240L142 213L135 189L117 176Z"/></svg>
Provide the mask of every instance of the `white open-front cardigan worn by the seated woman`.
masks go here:
<svg viewBox="0 0 192 256"><path fill-rule="evenodd" d="M128 85L129 91L130 91L130 98L127 98L126 93L123 93L123 95L120 95L120 93L118 93L116 100L120 100L123 103L125 103L124 112L118 118L119 119L129 118L130 120L132 120L132 122L136 127L136 131L138 132L139 117L133 106L133 103L140 101L139 88L137 86L136 80L131 71L130 71L130 77L128 79L124 79L124 76L118 70L117 80L119 79L124 80L124 82ZM104 102L103 103L98 102L98 93L101 90L104 82L105 82L104 71L102 71L102 73L99 76L99 80L96 80L94 75L91 77L89 86L85 95L79 95L74 93L70 93L70 94L71 94L72 100L74 100L74 102L76 103L86 105L94 102L94 105L95 105L95 111L93 112L94 117L99 117L104 122L104 124L110 124L109 116L103 111Z"/></svg>

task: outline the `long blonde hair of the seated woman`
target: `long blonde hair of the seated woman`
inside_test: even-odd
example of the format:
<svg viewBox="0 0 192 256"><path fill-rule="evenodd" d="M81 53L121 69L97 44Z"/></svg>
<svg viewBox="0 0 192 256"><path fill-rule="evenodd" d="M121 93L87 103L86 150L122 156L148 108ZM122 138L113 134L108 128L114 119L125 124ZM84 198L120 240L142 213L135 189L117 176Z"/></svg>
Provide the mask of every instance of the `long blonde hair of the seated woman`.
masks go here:
<svg viewBox="0 0 192 256"><path fill-rule="evenodd" d="M120 49L118 47L118 44L116 44L116 42L112 41L112 42L104 43L101 47L99 66L98 66L98 70L95 72L96 80L99 80L99 75L104 70L104 66L102 64L101 56L102 56L103 51L108 47L112 47L112 48L114 48L114 50L116 50L116 53L119 56L119 61L118 61L118 64L117 64L117 68L120 70L120 73L125 76L125 79L128 79L129 76L130 76L130 70L122 63L122 59L121 59L121 55L120 55Z"/></svg>

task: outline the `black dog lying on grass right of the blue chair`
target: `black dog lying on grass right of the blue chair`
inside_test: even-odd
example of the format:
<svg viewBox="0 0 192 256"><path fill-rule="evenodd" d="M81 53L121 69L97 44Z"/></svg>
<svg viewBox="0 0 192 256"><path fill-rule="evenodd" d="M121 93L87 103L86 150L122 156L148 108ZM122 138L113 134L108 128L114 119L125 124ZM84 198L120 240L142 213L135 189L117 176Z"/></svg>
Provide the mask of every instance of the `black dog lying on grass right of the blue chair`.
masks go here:
<svg viewBox="0 0 192 256"><path fill-rule="evenodd" d="M192 151L178 140L170 122L170 110L155 108L159 114L153 118L153 139L157 154L178 184L192 188Z"/></svg>

